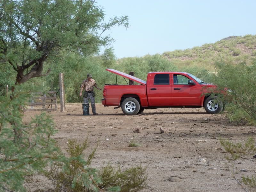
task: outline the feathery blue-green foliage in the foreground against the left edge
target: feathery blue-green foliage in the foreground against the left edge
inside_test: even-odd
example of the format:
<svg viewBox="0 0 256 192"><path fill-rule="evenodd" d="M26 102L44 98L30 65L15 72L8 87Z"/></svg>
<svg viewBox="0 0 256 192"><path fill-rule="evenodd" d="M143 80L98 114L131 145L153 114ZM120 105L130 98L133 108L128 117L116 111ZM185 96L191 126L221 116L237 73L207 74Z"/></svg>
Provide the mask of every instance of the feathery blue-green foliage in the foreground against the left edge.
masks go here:
<svg viewBox="0 0 256 192"><path fill-rule="evenodd" d="M56 132L52 119L42 113L23 123L22 108L28 98L24 87L17 86L12 99L0 101L0 191L25 191L26 176L60 160L51 138Z"/></svg>

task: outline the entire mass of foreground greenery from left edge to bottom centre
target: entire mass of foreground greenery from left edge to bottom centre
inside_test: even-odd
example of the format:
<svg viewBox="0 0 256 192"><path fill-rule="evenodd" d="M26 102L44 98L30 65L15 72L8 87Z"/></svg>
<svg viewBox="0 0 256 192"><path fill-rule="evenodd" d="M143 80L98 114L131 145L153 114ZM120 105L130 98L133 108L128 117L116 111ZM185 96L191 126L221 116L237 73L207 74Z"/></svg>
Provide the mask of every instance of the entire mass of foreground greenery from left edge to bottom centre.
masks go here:
<svg viewBox="0 0 256 192"><path fill-rule="evenodd" d="M65 156L52 139L56 132L52 119L45 113L22 120L21 108L29 98L23 86L12 99L0 97L0 191L27 191L24 183L35 174L52 181L53 191L139 191L146 186L146 168L132 167L121 171L108 165L96 170L90 166L96 148L85 159L82 144L68 140ZM19 137L17 137L17 135ZM38 189L49 191L49 189Z"/></svg>

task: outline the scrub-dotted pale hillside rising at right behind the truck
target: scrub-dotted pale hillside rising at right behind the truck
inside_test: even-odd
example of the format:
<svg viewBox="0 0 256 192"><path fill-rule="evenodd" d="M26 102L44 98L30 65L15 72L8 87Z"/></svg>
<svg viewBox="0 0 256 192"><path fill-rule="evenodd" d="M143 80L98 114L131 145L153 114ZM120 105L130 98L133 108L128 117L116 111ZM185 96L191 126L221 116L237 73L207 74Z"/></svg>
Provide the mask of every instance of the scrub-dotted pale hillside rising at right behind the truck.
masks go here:
<svg viewBox="0 0 256 192"><path fill-rule="evenodd" d="M256 35L230 36L214 44L164 52L163 56L178 68L192 65L210 71L214 71L215 62L221 60L233 64L251 64L252 59L256 58Z"/></svg>

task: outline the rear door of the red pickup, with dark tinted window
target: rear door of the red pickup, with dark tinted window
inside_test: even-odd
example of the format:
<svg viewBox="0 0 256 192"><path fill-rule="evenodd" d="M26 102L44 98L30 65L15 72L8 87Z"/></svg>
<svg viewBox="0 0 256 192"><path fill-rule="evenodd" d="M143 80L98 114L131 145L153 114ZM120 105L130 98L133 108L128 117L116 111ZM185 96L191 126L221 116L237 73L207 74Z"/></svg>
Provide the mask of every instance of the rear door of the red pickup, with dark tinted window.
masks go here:
<svg viewBox="0 0 256 192"><path fill-rule="evenodd" d="M147 85L149 106L172 105L172 85L169 73L152 74Z"/></svg>

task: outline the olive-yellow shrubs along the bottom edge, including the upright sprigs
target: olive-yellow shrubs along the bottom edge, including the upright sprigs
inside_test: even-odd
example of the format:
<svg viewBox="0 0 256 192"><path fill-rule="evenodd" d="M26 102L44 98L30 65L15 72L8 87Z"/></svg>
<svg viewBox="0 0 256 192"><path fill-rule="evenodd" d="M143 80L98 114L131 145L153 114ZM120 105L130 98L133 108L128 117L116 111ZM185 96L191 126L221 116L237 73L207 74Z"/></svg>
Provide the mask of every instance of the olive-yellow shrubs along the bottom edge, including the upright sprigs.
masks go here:
<svg viewBox="0 0 256 192"><path fill-rule="evenodd" d="M68 155L71 159L77 159L78 157L83 158L83 152L88 148L88 144L88 138L82 144L79 144L77 140L68 140ZM128 168L124 171L121 171L120 168L115 171L115 168L110 165L100 168L100 171L90 168L96 148L93 149L86 161L75 160L69 164L68 167L66 165L64 169L62 168L63 163L55 163L50 169L45 169L44 175L52 181L54 192L91 192L101 189L103 191L133 192L145 188L147 184L146 168L142 168L141 166ZM87 175L86 178L82 174L85 170L93 170L94 174L92 176ZM96 182L97 185L88 182L89 177L91 177L91 181ZM97 188L95 186L97 186Z"/></svg>

